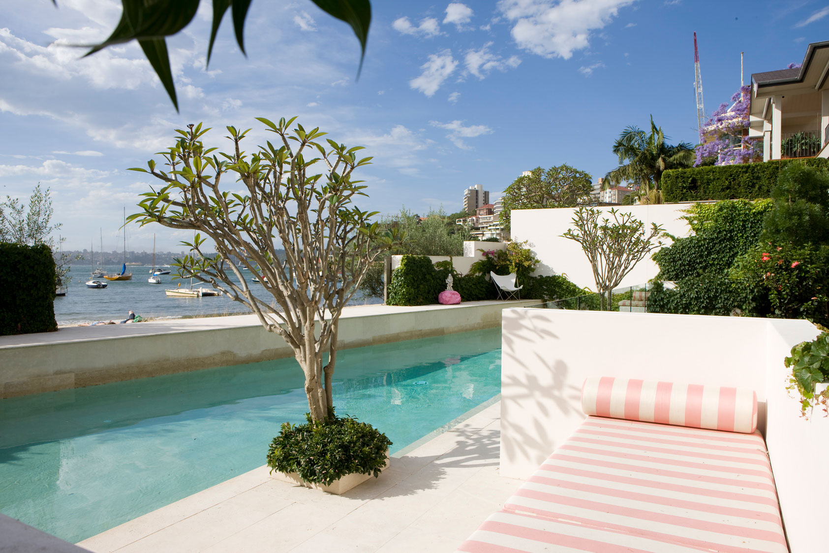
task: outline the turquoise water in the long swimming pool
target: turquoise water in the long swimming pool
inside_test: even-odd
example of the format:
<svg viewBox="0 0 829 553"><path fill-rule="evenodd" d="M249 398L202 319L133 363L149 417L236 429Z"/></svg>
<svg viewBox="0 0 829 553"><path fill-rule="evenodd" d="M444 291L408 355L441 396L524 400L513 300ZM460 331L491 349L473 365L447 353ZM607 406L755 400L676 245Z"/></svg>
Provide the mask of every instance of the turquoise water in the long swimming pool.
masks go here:
<svg viewBox="0 0 829 553"><path fill-rule="evenodd" d="M500 348L495 328L342 350L337 414L400 451L501 391ZM263 465L306 411L293 358L3 399L0 512L81 541Z"/></svg>

